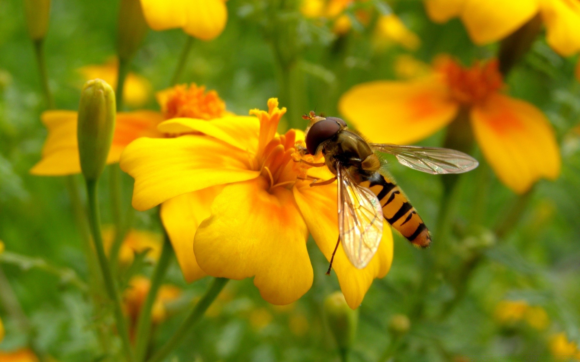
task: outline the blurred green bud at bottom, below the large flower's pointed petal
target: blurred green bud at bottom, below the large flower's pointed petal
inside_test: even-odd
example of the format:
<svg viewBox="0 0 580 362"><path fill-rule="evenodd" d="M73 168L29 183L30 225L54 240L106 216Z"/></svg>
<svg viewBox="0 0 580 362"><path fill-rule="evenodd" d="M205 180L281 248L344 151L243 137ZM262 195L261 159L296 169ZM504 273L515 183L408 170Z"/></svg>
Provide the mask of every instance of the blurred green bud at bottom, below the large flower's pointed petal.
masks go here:
<svg viewBox="0 0 580 362"><path fill-rule="evenodd" d="M350 309L345 296L337 291L324 300L324 317L342 356L346 356L357 331L358 310Z"/></svg>

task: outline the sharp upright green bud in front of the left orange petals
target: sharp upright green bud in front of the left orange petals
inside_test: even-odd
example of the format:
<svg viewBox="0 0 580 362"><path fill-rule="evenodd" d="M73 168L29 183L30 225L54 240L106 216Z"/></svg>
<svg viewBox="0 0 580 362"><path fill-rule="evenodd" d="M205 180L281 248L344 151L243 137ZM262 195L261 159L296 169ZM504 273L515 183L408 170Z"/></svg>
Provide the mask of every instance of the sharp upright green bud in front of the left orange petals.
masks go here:
<svg viewBox="0 0 580 362"><path fill-rule="evenodd" d="M115 129L115 92L102 79L82 87L78 107L78 153L87 181L95 181L107 162Z"/></svg>

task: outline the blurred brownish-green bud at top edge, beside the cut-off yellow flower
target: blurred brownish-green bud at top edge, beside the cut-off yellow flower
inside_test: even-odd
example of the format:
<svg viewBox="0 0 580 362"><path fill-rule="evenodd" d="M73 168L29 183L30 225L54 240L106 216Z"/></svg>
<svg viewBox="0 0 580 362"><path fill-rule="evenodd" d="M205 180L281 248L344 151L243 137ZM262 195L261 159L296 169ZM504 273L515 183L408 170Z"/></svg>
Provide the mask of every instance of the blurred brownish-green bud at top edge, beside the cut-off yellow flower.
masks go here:
<svg viewBox="0 0 580 362"><path fill-rule="evenodd" d="M120 59L130 59L139 49L145 34L147 23L143 16L140 0L121 0L119 8L119 33L117 52Z"/></svg>

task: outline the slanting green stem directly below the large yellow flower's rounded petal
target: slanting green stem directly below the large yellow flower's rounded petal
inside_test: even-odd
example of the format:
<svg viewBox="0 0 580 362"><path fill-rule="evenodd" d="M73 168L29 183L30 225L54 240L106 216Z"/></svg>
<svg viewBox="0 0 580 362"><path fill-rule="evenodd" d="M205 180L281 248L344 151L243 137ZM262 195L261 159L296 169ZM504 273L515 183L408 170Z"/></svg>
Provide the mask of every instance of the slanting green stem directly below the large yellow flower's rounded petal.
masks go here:
<svg viewBox="0 0 580 362"><path fill-rule="evenodd" d="M187 332L189 332L190 329L201 319L201 316L204 315L205 311L209 308L215 298L218 297L219 292L222 291L228 281L229 279L227 278L216 277L213 279L211 286L209 286L209 289L191 310L189 316L187 316L181 326L177 328L177 331L173 333L173 336L169 341L166 342L165 345L147 362L161 362L169 353L171 353L171 351L175 349L184 338L186 338Z"/></svg>

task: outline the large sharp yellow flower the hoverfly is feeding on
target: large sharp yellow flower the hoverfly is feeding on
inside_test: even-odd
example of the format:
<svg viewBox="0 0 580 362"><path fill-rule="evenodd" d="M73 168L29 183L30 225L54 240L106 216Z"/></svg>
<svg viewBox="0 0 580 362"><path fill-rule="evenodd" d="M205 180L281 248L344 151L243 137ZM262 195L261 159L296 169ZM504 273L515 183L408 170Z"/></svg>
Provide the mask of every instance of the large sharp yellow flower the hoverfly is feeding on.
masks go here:
<svg viewBox="0 0 580 362"><path fill-rule="evenodd" d="M125 149L121 169L135 178L133 207L147 210L163 203L161 218L188 281L206 274L253 276L266 301L289 304L313 281L309 232L331 257L338 238L336 184L310 187L298 178L332 175L295 162L295 144L304 134L276 133L285 111L271 98L268 111L254 109L254 116L172 119L160 131L189 134L140 138ZM389 271L393 239L388 224L384 230L364 269L354 268L342 248L336 252L333 267L351 308L360 305L375 277Z"/></svg>

